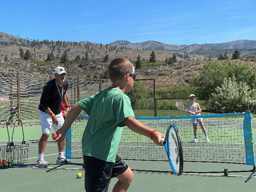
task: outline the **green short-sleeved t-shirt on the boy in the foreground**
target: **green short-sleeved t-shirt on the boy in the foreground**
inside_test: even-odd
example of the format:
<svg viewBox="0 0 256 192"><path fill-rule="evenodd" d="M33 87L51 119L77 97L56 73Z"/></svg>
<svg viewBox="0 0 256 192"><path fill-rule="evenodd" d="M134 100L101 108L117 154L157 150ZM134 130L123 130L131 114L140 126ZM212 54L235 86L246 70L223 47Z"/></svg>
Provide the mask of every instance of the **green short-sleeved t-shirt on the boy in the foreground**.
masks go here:
<svg viewBox="0 0 256 192"><path fill-rule="evenodd" d="M83 155L115 162L124 119L134 117L129 97L120 89L107 88L79 101L78 106L89 115L82 137Z"/></svg>

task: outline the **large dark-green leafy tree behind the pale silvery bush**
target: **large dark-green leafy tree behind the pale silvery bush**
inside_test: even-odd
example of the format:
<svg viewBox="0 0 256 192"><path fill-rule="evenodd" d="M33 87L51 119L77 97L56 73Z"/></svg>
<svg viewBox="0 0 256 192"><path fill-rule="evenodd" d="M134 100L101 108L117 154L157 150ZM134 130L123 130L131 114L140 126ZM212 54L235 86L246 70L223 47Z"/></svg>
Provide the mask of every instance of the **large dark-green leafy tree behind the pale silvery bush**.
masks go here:
<svg viewBox="0 0 256 192"><path fill-rule="evenodd" d="M240 64L231 61L206 61L200 69L200 73L192 77L191 86L200 87L196 93L202 100L208 100L220 87L225 78L235 76L237 83L244 82L250 89L256 89L256 68L249 68L247 64Z"/></svg>

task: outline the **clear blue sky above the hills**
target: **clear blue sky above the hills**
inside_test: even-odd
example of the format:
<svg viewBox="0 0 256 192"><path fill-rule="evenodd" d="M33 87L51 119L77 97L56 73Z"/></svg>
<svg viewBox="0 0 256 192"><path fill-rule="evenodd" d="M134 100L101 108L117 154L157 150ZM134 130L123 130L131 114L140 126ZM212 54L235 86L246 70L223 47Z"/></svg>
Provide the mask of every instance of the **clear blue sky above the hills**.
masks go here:
<svg viewBox="0 0 256 192"><path fill-rule="evenodd" d="M1 1L0 31L102 44L256 40L255 8L255 0L12 0Z"/></svg>

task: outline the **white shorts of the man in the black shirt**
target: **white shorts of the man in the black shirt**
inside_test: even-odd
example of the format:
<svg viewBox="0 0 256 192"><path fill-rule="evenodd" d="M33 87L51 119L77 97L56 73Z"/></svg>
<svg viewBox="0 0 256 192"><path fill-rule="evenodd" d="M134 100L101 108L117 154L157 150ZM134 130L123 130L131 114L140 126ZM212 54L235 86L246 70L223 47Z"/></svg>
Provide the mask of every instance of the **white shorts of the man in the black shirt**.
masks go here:
<svg viewBox="0 0 256 192"><path fill-rule="evenodd" d="M54 131L57 131L59 128L62 127L63 123L64 123L64 118L62 116L62 113L57 114L56 117L58 118L58 125L54 125L52 123L52 117L49 116L48 113L42 112L41 110L39 111L39 117L40 117L40 121L41 121L41 129L42 129L42 133L50 133L51 130L51 126L53 127Z"/></svg>

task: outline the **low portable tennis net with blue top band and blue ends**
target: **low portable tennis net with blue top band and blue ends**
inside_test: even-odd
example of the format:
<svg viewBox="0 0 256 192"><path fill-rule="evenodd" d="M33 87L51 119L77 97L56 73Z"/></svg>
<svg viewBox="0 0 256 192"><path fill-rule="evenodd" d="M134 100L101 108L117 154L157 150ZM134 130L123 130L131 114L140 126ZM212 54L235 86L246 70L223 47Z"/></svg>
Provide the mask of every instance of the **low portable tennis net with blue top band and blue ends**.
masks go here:
<svg viewBox="0 0 256 192"><path fill-rule="evenodd" d="M184 161L225 162L255 165L251 113L224 113L201 115L210 143L197 124L198 143L192 143L191 116L136 117L147 127L166 133L170 124L176 124L182 140ZM78 116L71 127L71 141L66 148L68 158L82 158L81 140L88 116ZM123 159L168 161L165 149L150 138L124 127L117 154Z"/></svg>

